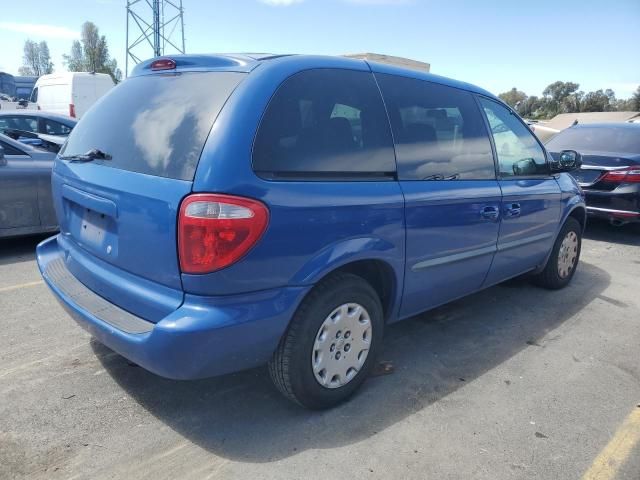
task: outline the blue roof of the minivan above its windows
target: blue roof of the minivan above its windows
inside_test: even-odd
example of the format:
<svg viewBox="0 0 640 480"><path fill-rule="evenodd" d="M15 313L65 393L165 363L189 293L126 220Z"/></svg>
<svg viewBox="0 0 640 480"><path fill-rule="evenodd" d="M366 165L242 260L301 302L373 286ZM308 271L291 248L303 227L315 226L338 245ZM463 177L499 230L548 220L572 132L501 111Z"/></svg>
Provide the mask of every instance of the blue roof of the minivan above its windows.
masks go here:
<svg viewBox="0 0 640 480"><path fill-rule="evenodd" d="M208 55L167 55L176 62L177 71L235 71L249 73L259 66L276 67L276 65L289 64L290 67L298 66L300 70L311 68L353 68L355 70L371 70L375 73L386 73L403 77L426 80L454 88L468 90L480 95L485 95L503 103L492 93L472 85L432 73L420 72L400 66L328 55L293 55L273 53L230 53ZM130 76L152 74L151 63L157 58L152 58L136 65Z"/></svg>

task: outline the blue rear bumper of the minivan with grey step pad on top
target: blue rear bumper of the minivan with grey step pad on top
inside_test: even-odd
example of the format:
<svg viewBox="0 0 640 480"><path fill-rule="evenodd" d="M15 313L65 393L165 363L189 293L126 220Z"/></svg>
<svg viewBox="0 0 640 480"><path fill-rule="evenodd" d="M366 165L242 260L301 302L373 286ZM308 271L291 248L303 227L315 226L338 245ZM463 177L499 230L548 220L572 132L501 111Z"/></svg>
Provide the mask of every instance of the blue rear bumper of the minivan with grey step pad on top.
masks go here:
<svg viewBox="0 0 640 480"><path fill-rule="evenodd" d="M244 295L185 295L157 323L107 302L66 270L57 237L40 243L38 267L69 315L98 341L163 377L186 380L264 364L310 287Z"/></svg>

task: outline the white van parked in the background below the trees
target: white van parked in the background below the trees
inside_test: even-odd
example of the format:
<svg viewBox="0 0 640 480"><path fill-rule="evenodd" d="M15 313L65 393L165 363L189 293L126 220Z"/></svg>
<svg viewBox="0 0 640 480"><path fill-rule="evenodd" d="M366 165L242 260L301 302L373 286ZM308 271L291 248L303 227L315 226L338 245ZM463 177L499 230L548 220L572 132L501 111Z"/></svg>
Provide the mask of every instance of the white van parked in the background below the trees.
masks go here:
<svg viewBox="0 0 640 480"><path fill-rule="evenodd" d="M80 118L114 86L106 73L63 72L43 75L31 93L38 110Z"/></svg>

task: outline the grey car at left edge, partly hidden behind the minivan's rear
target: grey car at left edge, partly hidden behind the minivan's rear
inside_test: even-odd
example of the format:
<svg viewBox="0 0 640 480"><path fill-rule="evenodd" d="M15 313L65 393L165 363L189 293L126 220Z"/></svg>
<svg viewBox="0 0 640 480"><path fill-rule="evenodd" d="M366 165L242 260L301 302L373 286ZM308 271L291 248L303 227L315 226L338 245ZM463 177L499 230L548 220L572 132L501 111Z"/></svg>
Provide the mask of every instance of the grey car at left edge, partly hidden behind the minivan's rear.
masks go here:
<svg viewBox="0 0 640 480"><path fill-rule="evenodd" d="M0 238L57 230L51 199L55 153L0 133Z"/></svg>

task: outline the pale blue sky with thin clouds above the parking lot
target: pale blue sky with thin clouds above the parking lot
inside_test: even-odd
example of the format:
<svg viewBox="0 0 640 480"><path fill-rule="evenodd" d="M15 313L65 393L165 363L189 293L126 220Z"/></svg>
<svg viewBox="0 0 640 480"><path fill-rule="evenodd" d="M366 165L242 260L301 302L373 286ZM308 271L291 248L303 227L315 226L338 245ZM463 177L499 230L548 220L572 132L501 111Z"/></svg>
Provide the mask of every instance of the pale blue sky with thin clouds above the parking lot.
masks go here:
<svg viewBox="0 0 640 480"><path fill-rule="evenodd" d="M178 0L173 0L174 2ZM124 70L126 0L0 0L0 71L17 74L26 39L55 70L91 20ZM640 84L640 0L183 0L187 53L375 52L498 94L556 81L628 98ZM139 4L144 6L144 2ZM140 12L143 9L140 8ZM150 19L150 13L146 14ZM143 58L152 56L140 48Z"/></svg>

